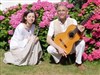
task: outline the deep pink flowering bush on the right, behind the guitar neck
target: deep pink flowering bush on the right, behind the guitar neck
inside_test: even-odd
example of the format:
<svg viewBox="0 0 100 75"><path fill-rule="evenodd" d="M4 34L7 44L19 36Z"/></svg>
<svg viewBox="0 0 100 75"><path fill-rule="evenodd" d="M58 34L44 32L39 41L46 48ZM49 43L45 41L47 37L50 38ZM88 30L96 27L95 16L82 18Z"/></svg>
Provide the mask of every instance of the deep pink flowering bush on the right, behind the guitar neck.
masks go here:
<svg viewBox="0 0 100 75"><path fill-rule="evenodd" d="M88 0L83 4L80 20L86 19L87 15L93 12L100 6L100 0ZM83 54L84 60L98 60L100 59L100 8L96 10L90 19L84 24L86 30L83 39L86 42L85 53Z"/></svg>

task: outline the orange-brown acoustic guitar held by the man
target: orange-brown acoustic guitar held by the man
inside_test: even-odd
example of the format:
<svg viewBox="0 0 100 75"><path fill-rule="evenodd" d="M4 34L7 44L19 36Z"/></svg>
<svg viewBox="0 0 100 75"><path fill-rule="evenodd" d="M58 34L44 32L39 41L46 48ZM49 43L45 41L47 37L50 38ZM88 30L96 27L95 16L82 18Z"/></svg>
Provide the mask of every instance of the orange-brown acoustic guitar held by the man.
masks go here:
<svg viewBox="0 0 100 75"><path fill-rule="evenodd" d="M84 25L92 15L94 15L94 12L91 12L90 15L81 22L81 25ZM54 42L63 48L68 55L71 52L73 45L80 39L81 35L77 26L72 24L65 32L57 34L54 38Z"/></svg>

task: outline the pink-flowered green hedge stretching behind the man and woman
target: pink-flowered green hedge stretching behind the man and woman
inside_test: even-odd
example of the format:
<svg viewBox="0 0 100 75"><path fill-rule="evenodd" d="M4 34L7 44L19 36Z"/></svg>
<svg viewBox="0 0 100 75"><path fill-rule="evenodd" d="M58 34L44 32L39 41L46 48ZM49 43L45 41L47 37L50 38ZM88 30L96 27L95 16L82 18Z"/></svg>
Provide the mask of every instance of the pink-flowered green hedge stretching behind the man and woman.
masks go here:
<svg viewBox="0 0 100 75"><path fill-rule="evenodd" d="M100 6L99 0L82 1L79 5L75 5L77 1L60 2L69 8L69 15L75 18L80 24L87 16L97 7ZM73 3L73 4L72 4ZM0 11L0 48L9 49L9 42L13 35L14 29L20 23L23 13L32 9L36 12L36 27L40 27L39 38L44 53L48 44L46 43L46 35L50 21L56 18L56 6L59 3L36 2L33 4L18 4L12 6L5 11ZM83 39L86 42L84 60L100 59L100 13L95 13L84 25L86 27Z"/></svg>

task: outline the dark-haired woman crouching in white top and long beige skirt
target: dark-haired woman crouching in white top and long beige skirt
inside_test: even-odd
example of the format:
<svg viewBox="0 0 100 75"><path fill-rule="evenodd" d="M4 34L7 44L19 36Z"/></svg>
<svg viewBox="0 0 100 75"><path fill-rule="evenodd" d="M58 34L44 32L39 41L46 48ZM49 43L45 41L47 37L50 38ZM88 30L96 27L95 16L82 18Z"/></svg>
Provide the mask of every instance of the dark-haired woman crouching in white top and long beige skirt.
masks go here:
<svg viewBox="0 0 100 75"><path fill-rule="evenodd" d="M10 42L10 51L4 54L4 63L35 65L39 63L42 49L34 35L36 17L32 10L23 14L22 22L16 27Z"/></svg>

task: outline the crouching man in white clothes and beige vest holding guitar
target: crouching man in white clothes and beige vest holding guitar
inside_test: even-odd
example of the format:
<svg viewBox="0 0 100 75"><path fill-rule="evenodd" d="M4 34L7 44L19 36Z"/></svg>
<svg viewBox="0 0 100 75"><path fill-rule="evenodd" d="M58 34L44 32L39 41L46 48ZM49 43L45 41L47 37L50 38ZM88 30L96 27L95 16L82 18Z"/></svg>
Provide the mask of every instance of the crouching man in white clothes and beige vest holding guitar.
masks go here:
<svg viewBox="0 0 100 75"><path fill-rule="evenodd" d="M76 25L80 32L83 32L85 29L82 25L77 25L77 21L75 19L67 17L68 9L66 8L66 6L59 5L57 7L57 15L58 15L58 19L50 23L48 34L47 34L47 43L50 44L50 46L48 46L47 48L47 51L53 56L55 63L59 63L61 57L62 56L67 57L67 54L60 46L58 46L53 41L53 36L57 35L58 33L65 32L68 26L71 24ZM84 67L82 65L82 54L85 48L84 40L81 40L78 43L78 45L76 45L74 48L76 52L75 63L79 68L83 69Z"/></svg>

